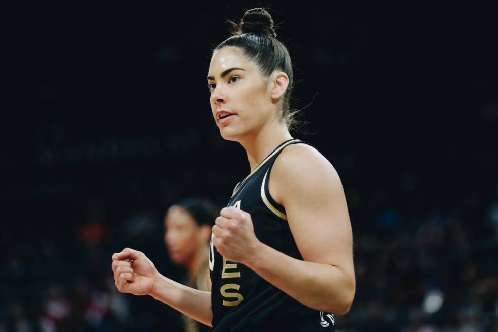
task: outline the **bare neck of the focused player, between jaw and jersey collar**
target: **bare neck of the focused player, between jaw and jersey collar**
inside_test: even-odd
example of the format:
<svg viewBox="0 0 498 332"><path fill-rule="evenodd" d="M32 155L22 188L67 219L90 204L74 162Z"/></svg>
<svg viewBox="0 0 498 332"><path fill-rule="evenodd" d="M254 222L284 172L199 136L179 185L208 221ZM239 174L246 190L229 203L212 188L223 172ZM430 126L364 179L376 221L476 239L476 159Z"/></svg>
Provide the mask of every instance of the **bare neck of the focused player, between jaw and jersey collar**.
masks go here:
<svg viewBox="0 0 498 332"><path fill-rule="evenodd" d="M292 139L284 123L263 127L256 136L240 144L247 152L251 172L282 142Z"/></svg>

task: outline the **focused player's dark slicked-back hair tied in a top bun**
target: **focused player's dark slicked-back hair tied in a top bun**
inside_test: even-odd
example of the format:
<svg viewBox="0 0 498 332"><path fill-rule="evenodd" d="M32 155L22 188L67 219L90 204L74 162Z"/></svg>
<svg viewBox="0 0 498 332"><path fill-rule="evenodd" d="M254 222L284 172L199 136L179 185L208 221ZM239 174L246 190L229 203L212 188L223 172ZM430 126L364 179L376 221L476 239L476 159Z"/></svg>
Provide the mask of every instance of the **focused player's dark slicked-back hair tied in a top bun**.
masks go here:
<svg viewBox="0 0 498 332"><path fill-rule="evenodd" d="M258 65L260 73L268 78L275 70L283 71L289 77L289 85L284 95L281 118L289 130L302 124L295 118L299 110L291 110L289 103L294 88L291 56L287 47L276 38L275 26L270 13L263 8L245 11L240 23L228 20L231 24L231 37L214 48L213 53L226 46L238 47L242 55Z"/></svg>

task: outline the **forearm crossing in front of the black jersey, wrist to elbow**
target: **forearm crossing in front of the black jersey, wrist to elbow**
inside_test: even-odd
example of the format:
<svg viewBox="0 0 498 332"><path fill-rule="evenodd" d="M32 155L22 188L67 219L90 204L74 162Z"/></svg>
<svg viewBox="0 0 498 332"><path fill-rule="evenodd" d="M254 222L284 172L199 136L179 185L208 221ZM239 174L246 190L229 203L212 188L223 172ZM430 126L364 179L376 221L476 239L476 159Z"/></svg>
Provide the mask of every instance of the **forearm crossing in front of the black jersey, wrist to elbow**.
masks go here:
<svg viewBox="0 0 498 332"><path fill-rule="evenodd" d="M354 296L354 282L330 264L290 257L260 243L246 265L266 281L307 307L345 314Z"/></svg>

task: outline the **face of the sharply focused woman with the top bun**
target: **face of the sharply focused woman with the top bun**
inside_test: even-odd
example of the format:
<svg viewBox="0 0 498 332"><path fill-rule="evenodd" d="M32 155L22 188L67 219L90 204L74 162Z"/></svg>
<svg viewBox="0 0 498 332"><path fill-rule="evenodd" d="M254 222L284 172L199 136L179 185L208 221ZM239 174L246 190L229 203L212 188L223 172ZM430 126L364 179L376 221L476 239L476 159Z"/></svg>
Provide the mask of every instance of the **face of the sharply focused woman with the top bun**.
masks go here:
<svg viewBox="0 0 498 332"><path fill-rule="evenodd" d="M211 109L220 134L233 141L256 136L277 114L268 81L263 79L258 66L239 52L232 46L217 50L207 78ZM220 111L233 115L221 119Z"/></svg>

